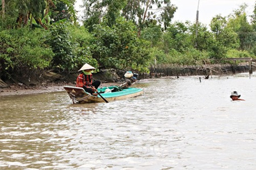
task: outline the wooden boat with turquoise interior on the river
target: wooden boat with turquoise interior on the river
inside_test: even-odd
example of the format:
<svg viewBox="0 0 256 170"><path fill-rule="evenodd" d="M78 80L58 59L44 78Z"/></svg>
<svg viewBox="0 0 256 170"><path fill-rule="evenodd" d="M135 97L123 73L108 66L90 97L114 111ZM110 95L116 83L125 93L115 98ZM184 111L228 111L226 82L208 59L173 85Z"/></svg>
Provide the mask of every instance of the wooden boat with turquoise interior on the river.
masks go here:
<svg viewBox="0 0 256 170"><path fill-rule="evenodd" d="M98 92L101 95L94 96L87 93L81 87L64 86L68 96L72 99L73 103L96 103L104 102L101 98L105 98L108 102L115 100L123 100L129 97L136 97L143 93L140 88L124 88L121 89L119 86L109 86L98 88Z"/></svg>

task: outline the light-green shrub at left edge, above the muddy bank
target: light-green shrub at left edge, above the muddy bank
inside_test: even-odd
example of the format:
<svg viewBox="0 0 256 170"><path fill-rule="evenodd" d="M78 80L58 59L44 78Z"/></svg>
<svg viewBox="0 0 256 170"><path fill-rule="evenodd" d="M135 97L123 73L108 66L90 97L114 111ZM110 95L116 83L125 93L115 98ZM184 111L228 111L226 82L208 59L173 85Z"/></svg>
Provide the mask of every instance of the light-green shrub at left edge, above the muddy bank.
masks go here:
<svg viewBox="0 0 256 170"><path fill-rule="evenodd" d="M47 31L27 28L0 31L0 69L48 67L54 54L44 43L46 35Z"/></svg>

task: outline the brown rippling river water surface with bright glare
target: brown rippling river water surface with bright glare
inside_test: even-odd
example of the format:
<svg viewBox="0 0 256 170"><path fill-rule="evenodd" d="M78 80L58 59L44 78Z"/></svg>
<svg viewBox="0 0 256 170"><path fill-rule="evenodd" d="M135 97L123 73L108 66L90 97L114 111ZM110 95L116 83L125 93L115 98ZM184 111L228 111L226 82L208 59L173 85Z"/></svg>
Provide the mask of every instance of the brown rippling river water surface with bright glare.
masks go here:
<svg viewBox="0 0 256 170"><path fill-rule="evenodd" d="M0 97L0 169L255 169L256 77L143 80L139 97ZM237 90L246 101L231 102Z"/></svg>

